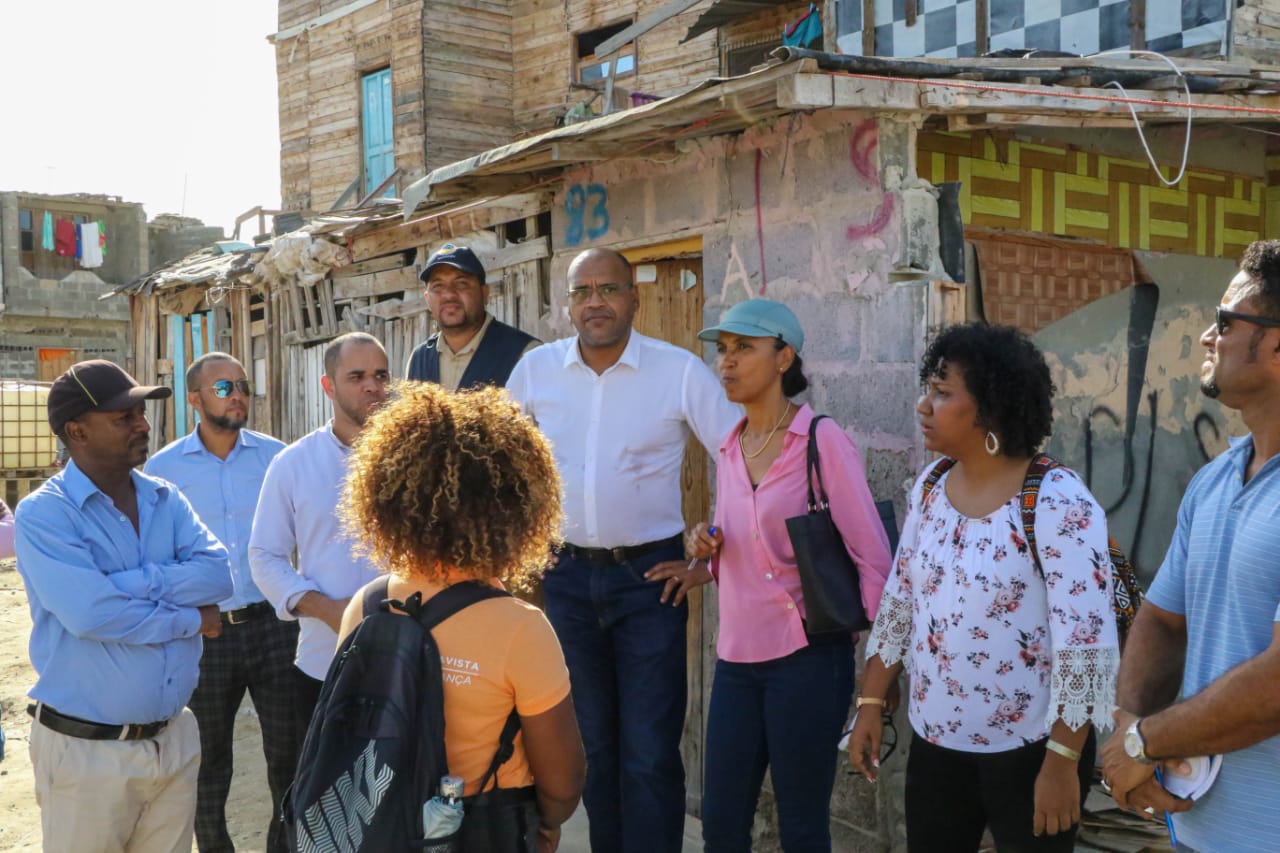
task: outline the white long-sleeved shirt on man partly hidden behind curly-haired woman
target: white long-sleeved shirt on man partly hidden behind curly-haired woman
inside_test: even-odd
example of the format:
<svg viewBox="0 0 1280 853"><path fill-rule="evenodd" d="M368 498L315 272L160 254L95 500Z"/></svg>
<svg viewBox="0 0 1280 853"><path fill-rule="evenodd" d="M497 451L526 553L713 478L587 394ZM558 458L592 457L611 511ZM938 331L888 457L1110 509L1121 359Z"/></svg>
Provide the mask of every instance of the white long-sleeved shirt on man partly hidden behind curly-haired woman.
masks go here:
<svg viewBox="0 0 1280 853"><path fill-rule="evenodd" d="M351 448L333 434L333 423L280 451L262 480L253 516L248 562L253 580L280 619L298 619L293 607L308 592L349 598L378 576L365 557L352 555L335 510L342 500ZM293 553L297 551L297 569ZM297 666L323 679L338 635L319 619L300 620Z"/></svg>

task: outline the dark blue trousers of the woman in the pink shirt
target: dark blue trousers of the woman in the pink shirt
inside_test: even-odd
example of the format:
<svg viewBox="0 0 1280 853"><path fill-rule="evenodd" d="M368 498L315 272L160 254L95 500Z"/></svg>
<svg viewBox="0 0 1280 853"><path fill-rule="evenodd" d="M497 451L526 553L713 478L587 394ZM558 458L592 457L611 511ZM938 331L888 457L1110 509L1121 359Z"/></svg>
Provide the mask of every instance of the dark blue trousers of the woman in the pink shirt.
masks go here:
<svg viewBox="0 0 1280 853"><path fill-rule="evenodd" d="M703 790L707 853L750 853L765 768L782 849L831 850L836 744L852 695L850 637L760 663L716 662Z"/></svg>

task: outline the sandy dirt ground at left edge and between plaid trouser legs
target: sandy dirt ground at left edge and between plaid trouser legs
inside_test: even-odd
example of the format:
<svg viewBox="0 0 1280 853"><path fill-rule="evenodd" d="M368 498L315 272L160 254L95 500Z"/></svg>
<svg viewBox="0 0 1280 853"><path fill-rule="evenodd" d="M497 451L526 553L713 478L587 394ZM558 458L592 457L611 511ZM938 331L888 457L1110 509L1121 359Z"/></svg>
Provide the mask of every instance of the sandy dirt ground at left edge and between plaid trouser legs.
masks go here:
<svg viewBox="0 0 1280 853"><path fill-rule="evenodd" d="M0 561L0 727L4 761L0 762L0 850L40 853L40 808L27 756L31 717L27 690L36 676L27 657L31 611L22 578L13 560ZM266 792L257 717L248 697L236 720L236 776L227 803L236 849L262 853L271 799ZM192 845L195 849L195 844Z"/></svg>

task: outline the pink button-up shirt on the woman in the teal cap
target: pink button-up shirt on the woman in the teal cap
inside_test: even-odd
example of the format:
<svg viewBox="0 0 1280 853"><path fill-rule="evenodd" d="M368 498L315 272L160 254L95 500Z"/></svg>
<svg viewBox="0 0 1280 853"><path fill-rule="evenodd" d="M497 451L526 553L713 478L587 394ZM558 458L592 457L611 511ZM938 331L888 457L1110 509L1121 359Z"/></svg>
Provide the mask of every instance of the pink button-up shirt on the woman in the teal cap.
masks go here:
<svg viewBox="0 0 1280 853"><path fill-rule="evenodd" d="M804 594L786 520L808 511L805 451L813 410L801 406L782 452L756 489L737 437L741 421L719 448L716 467L716 526L724 535L712 574L719 587L721 660L753 663L786 657L808 646ZM831 419L818 424L818 456L831 516L858 566L863 606L876 619L892 555L867 485L863 457Z"/></svg>

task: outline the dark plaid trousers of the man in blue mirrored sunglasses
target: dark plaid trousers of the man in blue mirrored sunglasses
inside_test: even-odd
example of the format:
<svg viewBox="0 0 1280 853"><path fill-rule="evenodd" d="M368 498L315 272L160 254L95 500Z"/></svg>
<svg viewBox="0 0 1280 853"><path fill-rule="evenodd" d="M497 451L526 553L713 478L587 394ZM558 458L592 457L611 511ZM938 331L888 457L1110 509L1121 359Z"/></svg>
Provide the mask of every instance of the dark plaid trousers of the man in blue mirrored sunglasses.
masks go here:
<svg viewBox="0 0 1280 853"><path fill-rule="evenodd" d="M266 783L271 790L273 820L268 827L268 853L285 850L284 833L275 816L280 798L298 765L293 704L297 684L293 654L298 624L271 615L239 625L223 625L221 634L205 638L200 681L188 702L200 725L200 776L196 786L196 841L200 853L233 853L227 833L227 793L230 790L236 711L244 692L262 729Z"/></svg>

